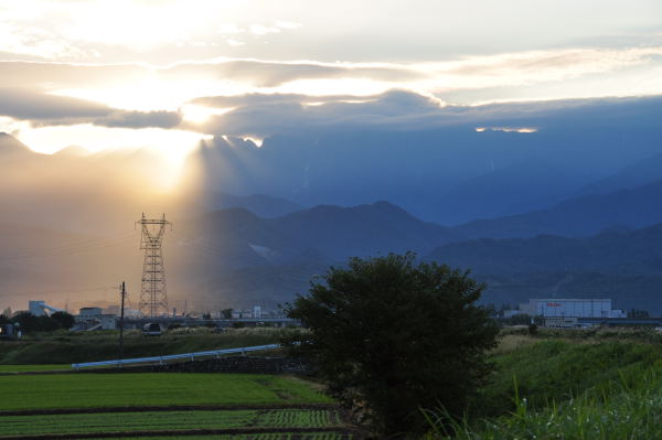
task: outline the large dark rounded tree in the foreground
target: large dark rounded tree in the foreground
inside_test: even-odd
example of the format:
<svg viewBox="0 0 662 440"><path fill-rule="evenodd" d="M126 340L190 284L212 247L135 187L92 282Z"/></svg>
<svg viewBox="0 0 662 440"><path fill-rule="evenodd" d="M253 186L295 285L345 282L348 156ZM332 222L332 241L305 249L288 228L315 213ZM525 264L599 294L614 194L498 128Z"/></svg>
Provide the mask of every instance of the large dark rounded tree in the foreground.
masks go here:
<svg viewBox="0 0 662 440"><path fill-rule="evenodd" d="M491 371L498 326L476 303L482 289L413 254L352 258L286 307L309 329L291 347L381 436L419 432L420 408L461 415Z"/></svg>

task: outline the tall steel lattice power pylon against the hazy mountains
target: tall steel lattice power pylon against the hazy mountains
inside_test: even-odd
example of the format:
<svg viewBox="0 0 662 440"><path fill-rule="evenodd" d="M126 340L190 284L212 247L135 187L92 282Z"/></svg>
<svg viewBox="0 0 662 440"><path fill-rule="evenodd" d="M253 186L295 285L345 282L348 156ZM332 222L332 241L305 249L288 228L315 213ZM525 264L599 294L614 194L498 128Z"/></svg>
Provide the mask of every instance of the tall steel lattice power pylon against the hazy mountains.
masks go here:
<svg viewBox="0 0 662 440"><path fill-rule="evenodd" d="M140 313L151 318L159 315L162 309L168 314L168 294L166 291L166 268L163 267L163 251L161 244L166 234L166 226L172 223L162 218L142 218L136 222L140 224L142 234L140 238L140 249L145 250L142 262L142 282L140 286Z"/></svg>

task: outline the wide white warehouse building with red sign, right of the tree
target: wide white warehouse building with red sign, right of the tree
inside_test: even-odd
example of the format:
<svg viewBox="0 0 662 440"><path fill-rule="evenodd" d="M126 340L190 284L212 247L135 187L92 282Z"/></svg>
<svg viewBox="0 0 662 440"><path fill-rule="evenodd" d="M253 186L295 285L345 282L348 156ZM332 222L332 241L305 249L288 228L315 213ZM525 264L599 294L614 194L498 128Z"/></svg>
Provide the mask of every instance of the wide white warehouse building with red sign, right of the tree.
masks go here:
<svg viewBox="0 0 662 440"><path fill-rule="evenodd" d="M622 310L612 310L610 299L531 299L520 304L522 313L532 316L623 318Z"/></svg>

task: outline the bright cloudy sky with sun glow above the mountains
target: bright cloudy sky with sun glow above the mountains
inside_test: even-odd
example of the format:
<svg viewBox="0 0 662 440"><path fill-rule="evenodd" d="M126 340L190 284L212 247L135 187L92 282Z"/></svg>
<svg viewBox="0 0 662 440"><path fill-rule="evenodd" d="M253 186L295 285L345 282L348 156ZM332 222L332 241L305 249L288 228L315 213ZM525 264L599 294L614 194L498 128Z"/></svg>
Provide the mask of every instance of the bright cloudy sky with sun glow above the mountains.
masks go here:
<svg viewBox="0 0 662 440"><path fill-rule="evenodd" d="M0 1L0 131L44 153L659 94L656 0Z"/></svg>

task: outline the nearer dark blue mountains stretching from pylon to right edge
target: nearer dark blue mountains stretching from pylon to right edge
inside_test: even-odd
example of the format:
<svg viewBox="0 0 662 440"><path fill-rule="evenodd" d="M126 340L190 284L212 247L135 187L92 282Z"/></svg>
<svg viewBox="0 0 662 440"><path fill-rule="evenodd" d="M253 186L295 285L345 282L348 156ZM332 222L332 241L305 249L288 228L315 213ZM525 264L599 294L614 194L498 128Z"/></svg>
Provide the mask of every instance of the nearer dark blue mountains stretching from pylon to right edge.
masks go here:
<svg viewBox="0 0 662 440"><path fill-rule="evenodd" d="M224 298L238 302L245 298L241 292L257 296L257 291L268 291L265 301L271 303L288 301L293 294L292 286L298 286L296 291L305 290L312 275L322 273L331 265L342 265L351 256L415 250L451 266L472 269L490 285L492 302L525 301L531 296L557 293L610 296L624 301L629 297L623 292L630 292L634 302L628 307L651 307L655 298L654 279L662 279L662 225L630 230L631 226L618 224L624 217L615 214L630 202L633 204L629 208L640 210L639 214L641 210L650 210L648 201L662 183L649 186L638 189L637 194L628 190L579 198L559 204L557 211L484 221L479 223L481 227L468 224L449 228L421 222L386 202L353 207L316 206L270 219L245 210L225 210L201 218L201 224L191 228L188 240L201 249L199 259L191 261L200 261L200 256L205 261L196 265L200 277L194 277L204 280L206 288L201 291L220 289ZM605 206L613 213L604 211ZM638 212L631 215L637 222L644 218ZM656 215L658 222L662 222L662 211ZM541 218L564 216L567 217L564 224L538 223ZM581 230L577 224L583 225ZM609 227L590 238L544 235L467 242L471 237L490 237L489 234L535 236L545 228L567 227L575 233L587 233L599 229L597 224ZM211 240L206 245L204 237ZM284 271L282 279L276 276L276 268ZM256 285L256 279L267 277L268 286ZM626 289L627 282L632 289ZM228 283L237 289L231 291Z"/></svg>

